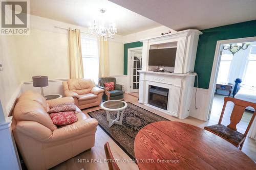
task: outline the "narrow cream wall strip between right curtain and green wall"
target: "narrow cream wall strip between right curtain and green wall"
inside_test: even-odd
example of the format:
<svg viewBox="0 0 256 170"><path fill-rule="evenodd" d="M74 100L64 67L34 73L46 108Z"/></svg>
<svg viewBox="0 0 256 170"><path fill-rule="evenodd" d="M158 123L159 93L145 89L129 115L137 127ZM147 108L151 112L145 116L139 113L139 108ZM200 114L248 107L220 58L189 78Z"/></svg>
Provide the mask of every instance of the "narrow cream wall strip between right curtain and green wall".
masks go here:
<svg viewBox="0 0 256 170"><path fill-rule="evenodd" d="M109 41L110 76L123 75L123 43Z"/></svg>

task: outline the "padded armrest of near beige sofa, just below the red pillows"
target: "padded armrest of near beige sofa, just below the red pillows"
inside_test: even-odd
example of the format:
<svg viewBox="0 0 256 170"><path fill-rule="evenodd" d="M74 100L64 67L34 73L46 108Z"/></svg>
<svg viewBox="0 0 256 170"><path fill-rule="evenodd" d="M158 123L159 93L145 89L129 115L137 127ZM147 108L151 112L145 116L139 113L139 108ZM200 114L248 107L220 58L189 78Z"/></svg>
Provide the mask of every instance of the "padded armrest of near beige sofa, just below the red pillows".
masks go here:
<svg viewBox="0 0 256 170"><path fill-rule="evenodd" d="M71 125L56 129L53 131L51 141L65 140L72 137L77 137L82 134L92 133L96 131L98 121L94 118L79 120Z"/></svg>

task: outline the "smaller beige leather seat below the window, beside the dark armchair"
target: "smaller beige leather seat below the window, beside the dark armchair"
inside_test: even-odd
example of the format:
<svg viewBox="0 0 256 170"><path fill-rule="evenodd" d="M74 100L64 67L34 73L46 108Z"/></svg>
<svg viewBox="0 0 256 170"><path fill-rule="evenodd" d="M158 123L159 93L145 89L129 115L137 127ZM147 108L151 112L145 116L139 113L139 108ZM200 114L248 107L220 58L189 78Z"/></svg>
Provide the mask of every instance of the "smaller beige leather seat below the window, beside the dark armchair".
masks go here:
<svg viewBox="0 0 256 170"><path fill-rule="evenodd" d="M99 106L104 90L95 86L91 79L69 79L62 82L64 94L72 96L79 109Z"/></svg>

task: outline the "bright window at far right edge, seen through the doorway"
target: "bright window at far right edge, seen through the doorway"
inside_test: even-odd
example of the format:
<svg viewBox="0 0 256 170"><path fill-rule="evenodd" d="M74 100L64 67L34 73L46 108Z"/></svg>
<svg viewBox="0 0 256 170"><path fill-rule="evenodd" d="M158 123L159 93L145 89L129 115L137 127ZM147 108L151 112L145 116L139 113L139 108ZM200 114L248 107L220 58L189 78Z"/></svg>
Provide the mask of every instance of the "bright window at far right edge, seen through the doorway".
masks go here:
<svg viewBox="0 0 256 170"><path fill-rule="evenodd" d="M252 45L248 59L247 59L245 74L244 74L242 84L248 85L248 86L256 86L255 72L256 72L256 45Z"/></svg>

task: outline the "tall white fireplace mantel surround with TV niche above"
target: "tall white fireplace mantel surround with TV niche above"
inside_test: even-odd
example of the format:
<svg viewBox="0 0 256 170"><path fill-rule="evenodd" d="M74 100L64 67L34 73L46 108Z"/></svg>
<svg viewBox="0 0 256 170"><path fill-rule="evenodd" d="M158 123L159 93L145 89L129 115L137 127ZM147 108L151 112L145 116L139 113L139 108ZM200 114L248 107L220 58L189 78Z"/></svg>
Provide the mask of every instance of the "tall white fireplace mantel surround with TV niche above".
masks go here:
<svg viewBox="0 0 256 170"><path fill-rule="evenodd" d="M192 91L196 74L193 72L196 60L198 30L184 30L177 33L141 40L142 69L140 72L139 103L156 108L166 115L186 118L189 116ZM148 68L148 52L150 49L177 47L174 73L155 72ZM167 110L148 104L150 86L167 88ZM166 117L168 118L168 117Z"/></svg>

